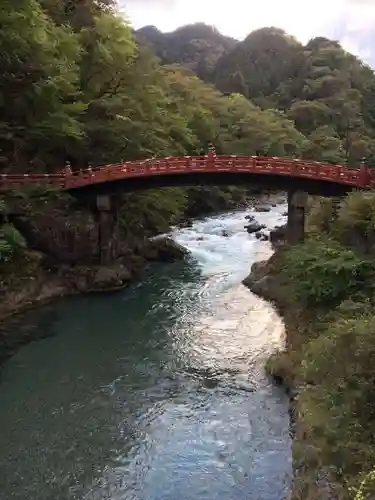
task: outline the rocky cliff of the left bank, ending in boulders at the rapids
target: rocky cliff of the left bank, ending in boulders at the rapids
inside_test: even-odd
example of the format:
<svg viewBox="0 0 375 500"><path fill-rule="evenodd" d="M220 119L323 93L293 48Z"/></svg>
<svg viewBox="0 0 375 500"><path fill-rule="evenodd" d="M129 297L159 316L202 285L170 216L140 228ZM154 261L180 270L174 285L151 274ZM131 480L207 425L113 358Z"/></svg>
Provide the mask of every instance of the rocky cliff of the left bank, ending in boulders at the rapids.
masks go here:
<svg viewBox="0 0 375 500"><path fill-rule="evenodd" d="M117 223L114 259L101 266L98 224L90 207L60 193L7 199L7 206L0 227L0 319L56 296L116 290L137 279L148 262L186 255L168 238L150 239L141 225L132 231ZM154 225L153 233L165 223Z"/></svg>

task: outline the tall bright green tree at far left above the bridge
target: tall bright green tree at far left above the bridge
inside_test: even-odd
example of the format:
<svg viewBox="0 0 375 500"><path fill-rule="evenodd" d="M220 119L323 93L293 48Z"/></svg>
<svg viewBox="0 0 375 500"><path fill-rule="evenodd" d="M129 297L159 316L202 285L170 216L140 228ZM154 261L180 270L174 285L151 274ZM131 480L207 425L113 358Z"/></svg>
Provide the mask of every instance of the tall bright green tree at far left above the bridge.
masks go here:
<svg viewBox="0 0 375 500"><path fill-rule="evenodd" d="M80 48L36 0L20 0L16 8L4 0L0 24L0 149L9 163L24 167L37 154L51 159L82 136Z"/></svg>

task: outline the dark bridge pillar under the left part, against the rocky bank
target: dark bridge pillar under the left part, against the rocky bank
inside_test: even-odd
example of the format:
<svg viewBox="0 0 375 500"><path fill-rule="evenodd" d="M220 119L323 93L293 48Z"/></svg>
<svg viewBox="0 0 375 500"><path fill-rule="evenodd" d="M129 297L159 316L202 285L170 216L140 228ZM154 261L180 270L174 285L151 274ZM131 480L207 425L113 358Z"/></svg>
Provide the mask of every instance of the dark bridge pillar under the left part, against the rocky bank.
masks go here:
<svg viewBox="0 0 375 500"><path fill-rule="evenodd" d="M111 264L117 254L118 206L115 196L96 196L98 224L98 256L100 264Z"/></svg>

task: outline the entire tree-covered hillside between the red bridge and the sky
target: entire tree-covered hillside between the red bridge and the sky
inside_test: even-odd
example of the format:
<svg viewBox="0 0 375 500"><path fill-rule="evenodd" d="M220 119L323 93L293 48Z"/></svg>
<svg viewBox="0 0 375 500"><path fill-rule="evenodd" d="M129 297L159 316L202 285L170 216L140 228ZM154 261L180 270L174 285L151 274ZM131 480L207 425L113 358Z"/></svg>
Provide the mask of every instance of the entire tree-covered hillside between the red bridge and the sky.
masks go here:
<svg viewBox="0 0 375 500"><path fill-rule="evenodd" d="M134 37L111 0L4 0L0 16L3 172L211 142L332 162L375 154L374 73L337 42L264 28L239 43L201 24Z"/></svg>

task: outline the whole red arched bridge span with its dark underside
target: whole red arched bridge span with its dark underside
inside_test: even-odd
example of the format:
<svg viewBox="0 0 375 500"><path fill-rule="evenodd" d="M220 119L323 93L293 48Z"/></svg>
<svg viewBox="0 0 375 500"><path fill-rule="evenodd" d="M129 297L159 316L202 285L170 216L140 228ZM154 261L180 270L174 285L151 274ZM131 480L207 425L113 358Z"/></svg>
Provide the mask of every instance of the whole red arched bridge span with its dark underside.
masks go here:
<svg viewBox="0 0 375 500"><path fill-rule="evenodd" d="M160 185L243 184L261 181L270 187L295 187L306 192L335 194L375 186L375 171L265 156L184 156L125 161L72 172L69 167L56 174L0 175L0 188L45 184L75 191L111 191L116 186L133 189ZM208 181L208 179L210 179ZM333 189L332 189L333 188Z"/></svg>

